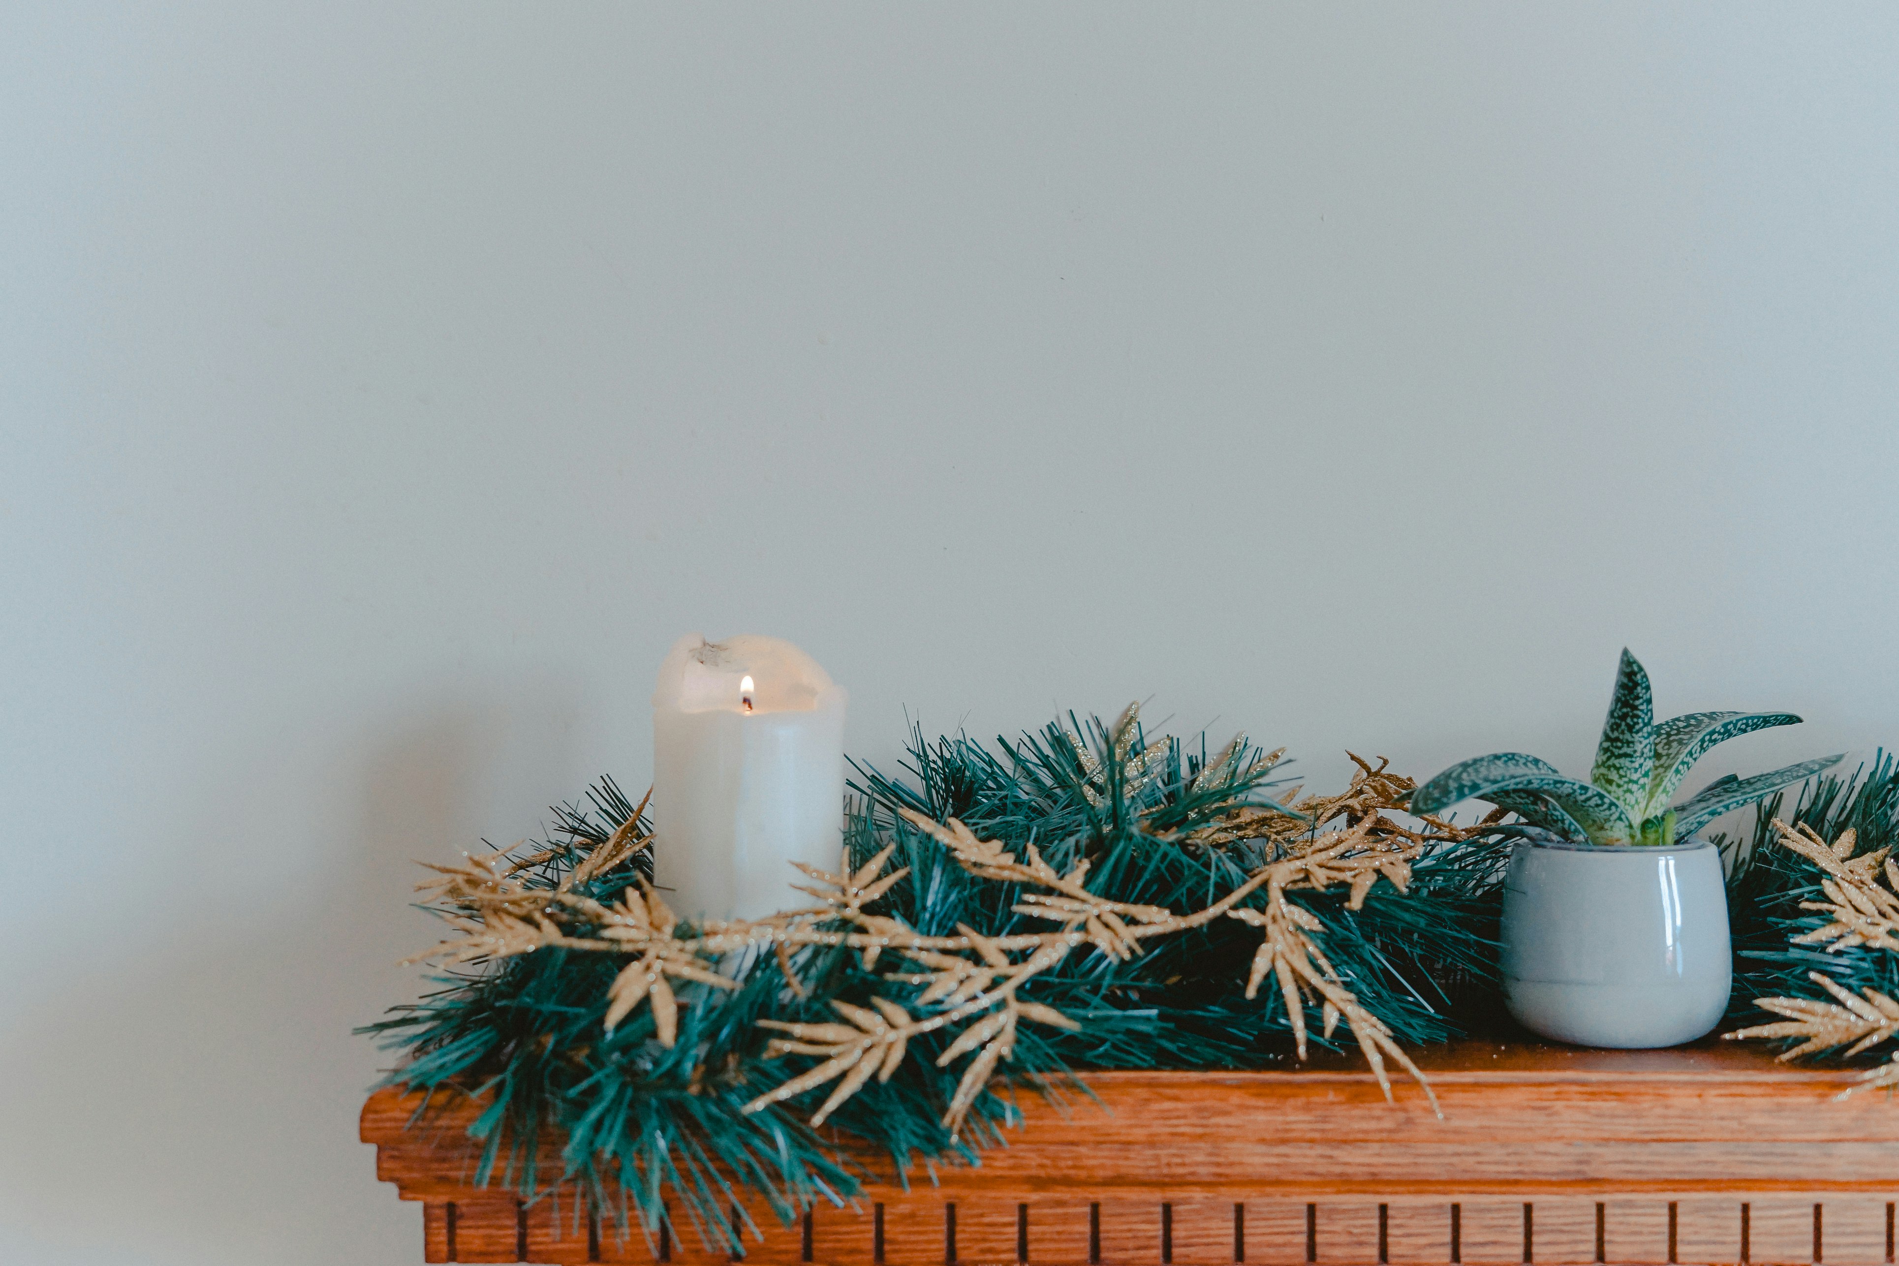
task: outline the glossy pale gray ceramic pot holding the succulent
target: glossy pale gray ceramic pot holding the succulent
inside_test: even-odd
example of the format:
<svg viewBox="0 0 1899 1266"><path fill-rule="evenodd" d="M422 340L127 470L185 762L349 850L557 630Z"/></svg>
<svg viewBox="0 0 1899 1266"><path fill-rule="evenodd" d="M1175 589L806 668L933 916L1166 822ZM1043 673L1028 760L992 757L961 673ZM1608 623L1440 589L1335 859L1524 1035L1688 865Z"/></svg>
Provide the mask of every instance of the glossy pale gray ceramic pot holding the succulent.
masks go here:
<svg viewBox="0 0 1899 1266"><path fill-rule="evenodd" d="M1692 1042L1728 1008L1720 852L1519 843L1504 883L1504 1000L1578 1046Z"/></svg>

